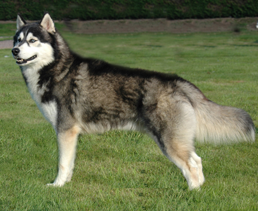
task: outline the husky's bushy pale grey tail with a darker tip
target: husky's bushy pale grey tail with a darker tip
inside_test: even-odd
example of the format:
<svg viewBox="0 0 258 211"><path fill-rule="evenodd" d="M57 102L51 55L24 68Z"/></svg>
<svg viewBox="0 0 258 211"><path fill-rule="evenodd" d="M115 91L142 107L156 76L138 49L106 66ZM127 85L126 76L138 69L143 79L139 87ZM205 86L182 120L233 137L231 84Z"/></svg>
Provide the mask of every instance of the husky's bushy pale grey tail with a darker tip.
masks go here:
<svg viewBox="0 0 258 211"><path fill-rule="evenodd" d="M189 99L197 120L196 141L216 144L255 141L255 125L247 112L218 105L208 100L193 84L190 86Z"/></svg>

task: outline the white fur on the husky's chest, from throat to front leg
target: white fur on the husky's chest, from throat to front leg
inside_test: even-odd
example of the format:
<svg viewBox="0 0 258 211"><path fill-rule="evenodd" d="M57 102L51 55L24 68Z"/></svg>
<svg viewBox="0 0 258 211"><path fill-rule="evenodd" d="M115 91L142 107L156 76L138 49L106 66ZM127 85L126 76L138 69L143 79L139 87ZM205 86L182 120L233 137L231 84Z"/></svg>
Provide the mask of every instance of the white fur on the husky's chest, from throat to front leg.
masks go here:
<svg viewBox="0 0 258 211"><path fill-rule="evenodd" d="M47 88L44 85L42 87L38 86L38 70L30 67L23 67L22 72L27 80L27 86L32 95L32 99L36 102L38 109L46 120L49 121L55 128L57 123L57 103L54 100L46 103L41 102L41 97Z"/></svg>

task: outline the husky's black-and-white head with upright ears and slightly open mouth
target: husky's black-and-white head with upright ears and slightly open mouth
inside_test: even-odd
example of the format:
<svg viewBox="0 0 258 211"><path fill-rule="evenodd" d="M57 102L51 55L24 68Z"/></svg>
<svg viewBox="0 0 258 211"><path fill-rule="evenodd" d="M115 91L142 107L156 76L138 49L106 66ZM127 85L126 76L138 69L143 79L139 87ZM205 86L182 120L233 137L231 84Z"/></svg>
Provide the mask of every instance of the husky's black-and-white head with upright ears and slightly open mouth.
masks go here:
<svg viewBox="0 0 258 211"><path fill-rule="evenodd" d="M27 23L23 17L17 16L17 31L13 37L12 54L19 66L37 63L43 67L54 60L54 21L49 13L45 13L38 23Z"/></svg>

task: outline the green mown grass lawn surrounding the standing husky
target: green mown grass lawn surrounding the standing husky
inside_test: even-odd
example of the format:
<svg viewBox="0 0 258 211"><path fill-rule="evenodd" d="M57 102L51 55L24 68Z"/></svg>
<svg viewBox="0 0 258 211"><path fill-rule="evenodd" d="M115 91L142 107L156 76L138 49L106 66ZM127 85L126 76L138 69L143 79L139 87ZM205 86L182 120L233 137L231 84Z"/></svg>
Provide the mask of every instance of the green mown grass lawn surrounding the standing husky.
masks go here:
<svg viewBox="0 0 258 211"><path fill-rule="evenodd" d="M63 35L83 56L176 72L209 99L246 110L258 127L257 32ZM206 178L199 192L188 190L179 169L146 135L82 135L72 181L47 187L57 175L55 132L32 101L10 50L0 50L1 211L258 210L257 140L196 144L196 152Z"/></svg>

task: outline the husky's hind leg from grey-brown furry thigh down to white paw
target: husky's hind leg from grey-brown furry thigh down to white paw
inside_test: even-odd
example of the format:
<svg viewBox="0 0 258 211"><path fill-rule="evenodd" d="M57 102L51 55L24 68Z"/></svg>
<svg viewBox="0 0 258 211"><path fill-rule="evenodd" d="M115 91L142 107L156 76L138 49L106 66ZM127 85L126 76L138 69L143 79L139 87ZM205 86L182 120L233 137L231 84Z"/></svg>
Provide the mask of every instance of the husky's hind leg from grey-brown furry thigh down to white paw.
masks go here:
<svg viewBox="0 0 258 211"><path fill-rule="evenodd" d="M204 182L201 159L194 151L196 116L187 101L164 100L149 113L149 128L161 151L180 168L189 189ZM169 102L169 103L168 103Z"/></svg>

